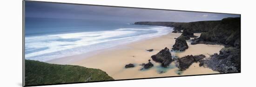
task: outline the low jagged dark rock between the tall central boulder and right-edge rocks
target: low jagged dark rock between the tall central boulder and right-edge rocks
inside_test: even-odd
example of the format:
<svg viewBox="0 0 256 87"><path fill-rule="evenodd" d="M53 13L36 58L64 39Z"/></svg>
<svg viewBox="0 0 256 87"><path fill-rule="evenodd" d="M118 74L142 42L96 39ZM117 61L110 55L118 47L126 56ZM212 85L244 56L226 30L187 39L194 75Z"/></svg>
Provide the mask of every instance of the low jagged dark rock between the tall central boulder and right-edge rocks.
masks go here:
<svg viewBox="0 0 256 87"><path fill-rule="evenodd" d="M187 56L184 56L182 58L179 58L177 60L177 64L176 66L180 69L180 71L184 71L186 70L187 68L189 68L194 62L198 62L200 60L202 60L203 58L205 58L204 55L187 55Z"/></svg>

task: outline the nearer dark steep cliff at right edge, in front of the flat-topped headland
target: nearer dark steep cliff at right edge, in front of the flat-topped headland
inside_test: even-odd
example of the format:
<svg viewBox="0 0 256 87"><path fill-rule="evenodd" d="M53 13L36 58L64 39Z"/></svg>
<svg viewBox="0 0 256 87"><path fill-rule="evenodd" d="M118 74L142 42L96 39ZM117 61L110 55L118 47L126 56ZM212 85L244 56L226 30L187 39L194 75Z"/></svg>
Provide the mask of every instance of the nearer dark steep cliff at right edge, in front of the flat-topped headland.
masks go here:
<svg viewBox="0 0 256 87"><path fill-rule="evenodd" d="M222 44L226 47L240 48L240 31L240 18L225 18L212 30L202 33L199 38L192 40L191 44Z"/></svg>

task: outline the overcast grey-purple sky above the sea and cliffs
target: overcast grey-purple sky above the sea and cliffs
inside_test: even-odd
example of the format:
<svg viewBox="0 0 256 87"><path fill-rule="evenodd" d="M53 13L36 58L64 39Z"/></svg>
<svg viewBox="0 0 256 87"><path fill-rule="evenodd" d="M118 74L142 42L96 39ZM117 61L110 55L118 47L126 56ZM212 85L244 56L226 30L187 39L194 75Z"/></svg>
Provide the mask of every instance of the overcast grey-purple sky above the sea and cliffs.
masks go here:
<svg viewBox="0 0 256 87"><path fill-rule="evenodd" d="M223 18L227 17L240 17L240 15L237 14L185 12L126 7L103 7L33 1L25 2L25 15L26 17L57 19L173 22L222 20Z"/></svg>

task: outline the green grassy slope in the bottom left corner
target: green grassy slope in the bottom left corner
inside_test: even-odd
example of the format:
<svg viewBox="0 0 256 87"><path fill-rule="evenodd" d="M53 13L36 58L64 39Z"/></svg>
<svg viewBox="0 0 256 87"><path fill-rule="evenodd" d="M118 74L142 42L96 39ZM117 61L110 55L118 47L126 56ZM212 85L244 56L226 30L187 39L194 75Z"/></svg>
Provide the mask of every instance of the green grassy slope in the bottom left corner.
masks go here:
<svg viewBox="0 0 256 87"><path fill-rule="evenodd" d="M25 84L45 85L114 80L100 69L25 60Z"/></svg>

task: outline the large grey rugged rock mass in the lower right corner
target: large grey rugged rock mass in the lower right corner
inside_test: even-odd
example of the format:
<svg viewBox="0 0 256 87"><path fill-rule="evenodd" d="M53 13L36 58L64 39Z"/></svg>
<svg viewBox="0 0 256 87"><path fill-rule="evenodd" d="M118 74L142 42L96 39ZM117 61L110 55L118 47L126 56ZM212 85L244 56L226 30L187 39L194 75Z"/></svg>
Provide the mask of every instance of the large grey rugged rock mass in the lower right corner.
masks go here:
<svg viewBox="0 0 256 87"><path fill-rule="evenodd" d="M220 73L239 73L241 72L241 50L236 47L222 48L220 54L211 55L209 59L200 61L200 65Z"/></svg>

